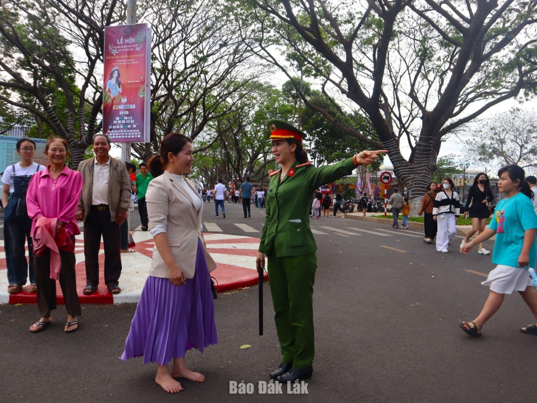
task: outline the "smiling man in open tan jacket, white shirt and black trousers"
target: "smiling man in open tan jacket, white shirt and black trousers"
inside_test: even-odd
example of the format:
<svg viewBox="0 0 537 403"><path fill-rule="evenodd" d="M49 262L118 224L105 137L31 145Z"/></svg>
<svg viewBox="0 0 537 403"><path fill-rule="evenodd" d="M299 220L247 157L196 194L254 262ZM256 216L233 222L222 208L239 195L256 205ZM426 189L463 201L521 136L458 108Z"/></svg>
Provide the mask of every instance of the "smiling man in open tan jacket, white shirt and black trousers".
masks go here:
<svg viewBox="0 0 537 403"><path fill-rule="evenodd" d="M110 148L108 136L95 136L95 157L78 165L78 172L84 178L76 219L84 221L85 295L95 292L99 285L101 235L105 284L112 294L121 292L120 226L125 222L130 206L130 177L125 163L108 155Z"/></svg>

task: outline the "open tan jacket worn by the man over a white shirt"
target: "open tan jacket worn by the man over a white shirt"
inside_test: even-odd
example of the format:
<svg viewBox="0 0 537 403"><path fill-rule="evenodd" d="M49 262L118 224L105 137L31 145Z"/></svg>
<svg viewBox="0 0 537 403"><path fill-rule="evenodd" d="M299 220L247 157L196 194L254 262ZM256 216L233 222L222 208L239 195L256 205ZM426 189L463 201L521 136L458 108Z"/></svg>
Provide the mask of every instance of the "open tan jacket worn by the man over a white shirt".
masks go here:
<svg viewBox="0 0 537 403"><path fill-rule="evenodd" d="M82 174L84 185L82 195L78 200L78 210L84 211L84 221L90 214L91 196L93 189L93 168L95 157L78 164L78 172ZM118 211L126 213L130 207L130 177L125 162L110 157L108 172L108 206L110 206L111 221L115 221Z"/></svg>

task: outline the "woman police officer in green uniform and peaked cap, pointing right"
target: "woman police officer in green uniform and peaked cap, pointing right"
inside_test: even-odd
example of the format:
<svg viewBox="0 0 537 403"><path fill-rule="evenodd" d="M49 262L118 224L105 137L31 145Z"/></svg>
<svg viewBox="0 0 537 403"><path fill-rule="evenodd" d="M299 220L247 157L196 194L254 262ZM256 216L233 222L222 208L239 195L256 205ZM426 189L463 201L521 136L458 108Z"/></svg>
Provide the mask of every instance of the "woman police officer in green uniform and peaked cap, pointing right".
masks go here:
<svg viewBox="0 0 537 403"><path fill-rule="evenodd" d="M371 164L386 150L362 151L353 158L315 168L302 148L306 134L288 123L273 119L272 153L281 164L271 172L266 192L266 217L257 264L268 272L274 321L281 350L281 364L270 374L280 382L311 377L314 357L313 284L317 246L309 227L313 191L360 164ZM281 211L280 211L281 209Z"/></svg>

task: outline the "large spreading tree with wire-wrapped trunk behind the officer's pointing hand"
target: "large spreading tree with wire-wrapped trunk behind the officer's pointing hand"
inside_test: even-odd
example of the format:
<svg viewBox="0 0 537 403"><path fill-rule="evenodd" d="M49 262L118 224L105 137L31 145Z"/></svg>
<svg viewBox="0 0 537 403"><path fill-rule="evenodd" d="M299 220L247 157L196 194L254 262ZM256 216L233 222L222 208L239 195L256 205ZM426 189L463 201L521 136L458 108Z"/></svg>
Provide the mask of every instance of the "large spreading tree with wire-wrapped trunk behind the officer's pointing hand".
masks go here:
<svg viewBox="0 0 537 403"><path fill-rule="evenodd" d="M442 138L492 105L536 91L535 1L243 0L237 19L264 60L317 80L340 109L360 111L379 140L304 102L374 148L388 149L418 202ZM246 9L248 12L244 12ZM287 60L279 57L280 49ZM299 91L299 85L295 84ZM410 147L408 158L402 147Z"/></svg>

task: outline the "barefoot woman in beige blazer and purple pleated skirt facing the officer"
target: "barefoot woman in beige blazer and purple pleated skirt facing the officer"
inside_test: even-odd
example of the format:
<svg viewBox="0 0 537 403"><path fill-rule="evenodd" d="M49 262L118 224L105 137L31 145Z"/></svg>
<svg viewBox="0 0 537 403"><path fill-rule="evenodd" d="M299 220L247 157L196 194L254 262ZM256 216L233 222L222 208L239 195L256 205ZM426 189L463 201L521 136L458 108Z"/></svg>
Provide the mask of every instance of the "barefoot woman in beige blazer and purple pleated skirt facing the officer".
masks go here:
<svg viewBox="0 0 537 403"><path fill-rule="evenodd" d="M193 162L192 140L179 133L167 134L159 155L149 161L155 179L149 183L146 202L155 249L121 356L125 361L143 356L144 364L156 363L155 382L170 393L183 390L176 378L205 380L186 368L186 350L203 352L217 343L209 278L216 264L201 234L201 197L183 176Z"/></svg>

